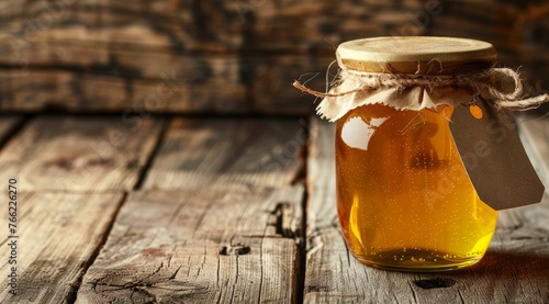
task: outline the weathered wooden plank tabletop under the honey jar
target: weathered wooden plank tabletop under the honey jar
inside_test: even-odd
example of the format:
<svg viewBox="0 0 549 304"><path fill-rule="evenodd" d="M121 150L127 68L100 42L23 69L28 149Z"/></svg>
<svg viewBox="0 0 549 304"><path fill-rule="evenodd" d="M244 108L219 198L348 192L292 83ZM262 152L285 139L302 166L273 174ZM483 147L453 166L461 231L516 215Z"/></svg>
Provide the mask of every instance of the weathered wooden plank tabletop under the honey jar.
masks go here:
<svg viewBox="0 0 549 304"><path fill-rule="evenodd" d="M549 184L549 120L520 117ZM501 212L484 259L400 273L350 257L334 125L312 119L0 116L19 293L1 303L549 303L549 194Z"/></svg>

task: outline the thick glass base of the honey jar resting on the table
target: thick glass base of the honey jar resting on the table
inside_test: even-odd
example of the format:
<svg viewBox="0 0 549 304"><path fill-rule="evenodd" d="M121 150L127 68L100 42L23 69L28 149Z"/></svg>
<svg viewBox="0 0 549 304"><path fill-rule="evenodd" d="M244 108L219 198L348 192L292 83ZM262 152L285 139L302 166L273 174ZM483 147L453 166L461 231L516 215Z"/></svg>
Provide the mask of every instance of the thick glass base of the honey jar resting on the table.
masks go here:
<svg viewBox="0 0 549 304"><path fill-rule="evenodd" d="M352 252L351 252L352 254ZM393 249L379 251L371 256L352 256L361 263L383 270L404 272L441 272L473 266L484 252L458 257L452 254L430 249Z"/></svg>

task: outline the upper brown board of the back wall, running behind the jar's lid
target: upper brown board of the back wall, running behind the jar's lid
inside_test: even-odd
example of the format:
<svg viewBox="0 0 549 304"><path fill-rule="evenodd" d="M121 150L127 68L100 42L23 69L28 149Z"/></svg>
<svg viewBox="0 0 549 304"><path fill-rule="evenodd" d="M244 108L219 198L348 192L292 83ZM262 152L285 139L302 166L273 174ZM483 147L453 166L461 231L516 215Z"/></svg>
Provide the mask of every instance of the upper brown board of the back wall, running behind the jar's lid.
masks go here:
<svg viewBox="0 0 549 304"><path fill-rule="evenodd" d="M349 40L449 35L493 43L505 65L537 61L547 69L547 54L538 50L546 47L539 33L549 27L549 8L534 0L362 0L361 5L327 0L155 1L154 5L94 0L68 5L44 29L32 26L36 23L33 16L43 14L47 5L29 2L20 10L14 8L18 4L8 4L3 11L9 20L9 30L0 36L3 65L68 66L156 77L158 70L172 69L186 57L204 53L240 54L244 58L242 52L332 56L335 46ZM204 15L208 18L201 20ZM539 66L531 68L539 70Z"/></svg>

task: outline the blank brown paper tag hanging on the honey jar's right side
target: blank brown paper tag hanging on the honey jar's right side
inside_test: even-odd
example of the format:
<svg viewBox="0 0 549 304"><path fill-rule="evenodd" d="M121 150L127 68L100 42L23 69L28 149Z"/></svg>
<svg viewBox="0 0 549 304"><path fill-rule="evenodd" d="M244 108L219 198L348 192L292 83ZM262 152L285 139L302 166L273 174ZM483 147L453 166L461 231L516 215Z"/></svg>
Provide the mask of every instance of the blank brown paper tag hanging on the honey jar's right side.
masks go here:
<svg viewBox="0 0 549 304"><path fill-rule="evenodd" d="M494 210L539 203L545 187L511 116L480 101L456 106L450 131L479 198Z"/></svg>

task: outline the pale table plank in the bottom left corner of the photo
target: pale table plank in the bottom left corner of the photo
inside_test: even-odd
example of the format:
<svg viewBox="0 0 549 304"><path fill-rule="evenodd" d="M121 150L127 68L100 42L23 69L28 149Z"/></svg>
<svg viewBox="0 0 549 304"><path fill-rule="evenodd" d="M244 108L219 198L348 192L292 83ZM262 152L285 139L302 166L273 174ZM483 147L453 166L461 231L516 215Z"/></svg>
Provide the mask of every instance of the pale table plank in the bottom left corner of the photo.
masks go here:
<svg viewBox="0 0 549 304"><path fill-rule="evenodd" d="M2 195L8 196L5 191ZM4 278L0 302L70 303L104 243L123 194L29 192L20 183L18 195L18 295L10 294L7 285L14 266L8 263L13 238L8 238L8 223L2 221L0 255L5 261L0 264Z"/></svg>

